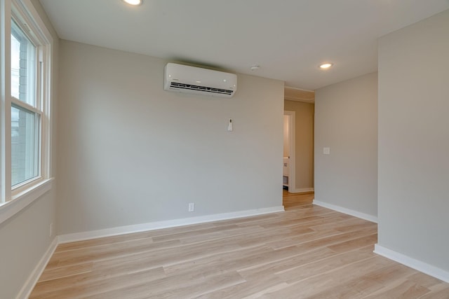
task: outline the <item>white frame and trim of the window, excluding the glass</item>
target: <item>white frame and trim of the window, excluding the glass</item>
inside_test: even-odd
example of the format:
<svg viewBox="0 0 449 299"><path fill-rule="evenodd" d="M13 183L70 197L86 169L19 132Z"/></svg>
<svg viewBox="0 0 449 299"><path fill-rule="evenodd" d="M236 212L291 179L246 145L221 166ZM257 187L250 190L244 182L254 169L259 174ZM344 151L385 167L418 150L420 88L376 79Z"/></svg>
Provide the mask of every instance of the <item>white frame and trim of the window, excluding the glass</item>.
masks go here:
<svg viewBox="0 0 449 299"><path fill-rule="evenodd" d="M0 223L51 190L53 38L30 0L0 0ZM36 45L36 106L11 96L11 22ZM11 187L11 104L40 115L38 176Z"/></svg>

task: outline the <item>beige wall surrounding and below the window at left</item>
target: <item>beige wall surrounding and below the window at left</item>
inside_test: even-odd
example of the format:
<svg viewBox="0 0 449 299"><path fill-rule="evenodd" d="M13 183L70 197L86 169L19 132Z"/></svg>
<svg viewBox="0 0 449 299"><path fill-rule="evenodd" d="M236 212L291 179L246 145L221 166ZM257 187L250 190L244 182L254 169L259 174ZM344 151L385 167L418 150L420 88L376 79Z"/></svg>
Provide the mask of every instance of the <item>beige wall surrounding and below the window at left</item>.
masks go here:
<svg viewBox="0 0 449 299"><path fill-rule="evenodd" d="M41 15L47 29L53 36L53 57L52 62L52 109L57 106L58 92L58 43L51 23L46 18L38 0L32 0L36 11ZM55 126L55 113L52 113L53 125ZM51 169L55 175L55 139L56 134L53 130L53 147L51 148ZM36 265L38 265L42 256L48 250L53 242L55 234L50 233L50 224L55 221L56 205L56 182L53 181L53 189L42 195L32 204L22 209L18 214L9 218L0 224L0 298L16 298L22 286L32 274Z"/></svg>

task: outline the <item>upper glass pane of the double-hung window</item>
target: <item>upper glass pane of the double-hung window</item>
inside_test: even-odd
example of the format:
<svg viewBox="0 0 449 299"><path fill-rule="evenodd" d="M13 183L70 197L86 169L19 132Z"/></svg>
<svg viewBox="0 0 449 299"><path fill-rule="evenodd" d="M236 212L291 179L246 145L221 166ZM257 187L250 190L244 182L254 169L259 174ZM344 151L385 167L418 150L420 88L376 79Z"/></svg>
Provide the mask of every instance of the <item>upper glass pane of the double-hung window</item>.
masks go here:
<svg viewBox="0 0 449 299"><path fill-rule="evenodd" d="M11 95L36 106L36 47L15 22L11 22Z"/></svg>

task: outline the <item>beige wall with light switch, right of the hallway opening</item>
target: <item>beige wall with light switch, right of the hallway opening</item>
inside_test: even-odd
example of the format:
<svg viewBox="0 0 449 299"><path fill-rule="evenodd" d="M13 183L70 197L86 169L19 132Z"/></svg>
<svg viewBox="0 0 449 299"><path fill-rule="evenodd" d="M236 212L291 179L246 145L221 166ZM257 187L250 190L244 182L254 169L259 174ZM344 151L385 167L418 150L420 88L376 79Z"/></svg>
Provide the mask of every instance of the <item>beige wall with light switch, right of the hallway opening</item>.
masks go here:
<svg viewBox="0 0 449 299"><path fill-rule="evenodd" d="M377 73L315 91L315 199L377 217Z"/></svg>

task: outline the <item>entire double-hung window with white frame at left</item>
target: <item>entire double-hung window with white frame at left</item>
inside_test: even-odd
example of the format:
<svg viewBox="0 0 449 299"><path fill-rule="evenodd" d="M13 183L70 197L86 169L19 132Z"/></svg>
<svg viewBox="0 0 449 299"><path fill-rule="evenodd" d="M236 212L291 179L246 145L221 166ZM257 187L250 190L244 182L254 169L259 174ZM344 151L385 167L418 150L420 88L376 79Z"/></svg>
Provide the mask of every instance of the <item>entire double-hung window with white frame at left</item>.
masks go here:
<svg viewBox="0 0 449 299"><path fill-rule="evenodd" d="M51 188L52 38L30 1L0 9L1 223Z"/></svg>

